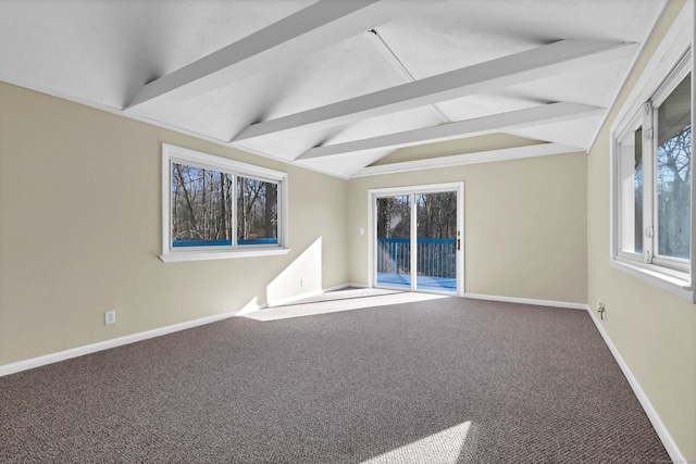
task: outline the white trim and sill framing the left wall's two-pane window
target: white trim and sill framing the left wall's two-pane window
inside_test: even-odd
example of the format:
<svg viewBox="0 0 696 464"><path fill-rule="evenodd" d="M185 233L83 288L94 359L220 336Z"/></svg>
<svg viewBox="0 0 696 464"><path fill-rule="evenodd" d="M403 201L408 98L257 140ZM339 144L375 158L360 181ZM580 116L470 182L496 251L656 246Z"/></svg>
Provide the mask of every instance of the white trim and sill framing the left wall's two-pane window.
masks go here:
<svg viewBox="0 0 696 464"><path fill-rule="evenodd" d="M252 177L259 180L278 183L278 244L244 248L176 248L172 247L172 163L231 172L236 177ZM235 202L233 202L235 203ZM236 206L233 205L233 206ZM234 215L234 209L232 214ZM181 261L224 260L229 258L270 256L287 254L288 248L288 186L287 173L273 171L253 164L241 163L226 158L215 156L200 151L162 143L162 254L165 263Z"/></svg>

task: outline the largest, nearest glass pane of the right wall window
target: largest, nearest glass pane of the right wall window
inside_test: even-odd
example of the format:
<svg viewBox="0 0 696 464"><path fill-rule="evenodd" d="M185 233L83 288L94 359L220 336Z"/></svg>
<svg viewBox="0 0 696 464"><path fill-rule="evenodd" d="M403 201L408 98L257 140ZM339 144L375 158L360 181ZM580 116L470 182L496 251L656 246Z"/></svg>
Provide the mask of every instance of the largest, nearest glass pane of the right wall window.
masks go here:
<svg viewBox="0 0 696 464"><path fill-rule="evenodd" d="M658 109L658 254L688 259L691 211L691 74Z"/></svg>

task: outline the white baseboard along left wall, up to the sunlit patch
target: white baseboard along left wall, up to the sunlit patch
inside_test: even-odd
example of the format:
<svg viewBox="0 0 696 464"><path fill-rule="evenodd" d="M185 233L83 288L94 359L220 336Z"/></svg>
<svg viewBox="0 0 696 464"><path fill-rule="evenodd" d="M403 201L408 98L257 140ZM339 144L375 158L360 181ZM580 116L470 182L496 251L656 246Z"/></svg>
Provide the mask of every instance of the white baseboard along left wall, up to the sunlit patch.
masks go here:
<svg viewBox="0 0 696 464"><path fill-rule="evenodd" d="M15 374L22 371L28 371L35 367L45 366L47 364L58 363L60 361L70 360L72 358L82 356L85 354L96 353L97 351L108 350L110 348L116 348L128 343L135 343L136 341L147 340L149 338L160 337L162 335L173 334L175 331L185 330L187 328L197 327L204 324L211 324L217 321L223 321L229 317L234 317L241 311L259 310L261 305L254 305L253 308L245 308L244 310L231 311L227 313L215 314L212 316L200 317L194 321L187 321L185 323L173 324L165 327L154 328L151 330L140 331L138 334L126 335L124 337L113 338L111 340L99 341L97 343L86 344L83 347L72 348L70 350L59 351L57 353L46 354L38 358L32 358L24 361L17 361L16 363L4 364L0 366L0 377Z"/></svg>

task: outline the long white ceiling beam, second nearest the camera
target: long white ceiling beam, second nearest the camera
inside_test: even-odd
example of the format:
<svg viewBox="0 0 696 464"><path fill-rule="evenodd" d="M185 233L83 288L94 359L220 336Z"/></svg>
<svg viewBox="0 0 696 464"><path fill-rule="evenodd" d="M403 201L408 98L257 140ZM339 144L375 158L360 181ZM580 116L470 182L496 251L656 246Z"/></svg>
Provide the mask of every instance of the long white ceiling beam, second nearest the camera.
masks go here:
<svg viewBox="0 0 696 464"><path fill-rule="evenodd" d="M484 91L499 90L556 74L584 70L631 57L636 43L560 40L368 93L324 106L252 124L234 141L296 128L326 128Z"/></svg>

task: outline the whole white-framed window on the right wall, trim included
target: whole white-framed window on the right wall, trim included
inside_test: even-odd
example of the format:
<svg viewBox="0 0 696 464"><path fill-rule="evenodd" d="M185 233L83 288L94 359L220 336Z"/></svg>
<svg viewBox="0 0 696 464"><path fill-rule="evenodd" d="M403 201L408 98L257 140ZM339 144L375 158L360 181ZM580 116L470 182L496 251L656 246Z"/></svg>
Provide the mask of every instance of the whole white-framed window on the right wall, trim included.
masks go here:
<svg viewBox="0 0 696 464"><path fill-rule="evenodd" d="M611 264L694 302L691 16L682 12L612 126Z"/></svg>

